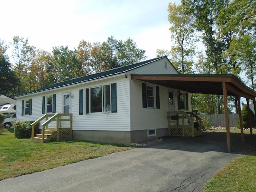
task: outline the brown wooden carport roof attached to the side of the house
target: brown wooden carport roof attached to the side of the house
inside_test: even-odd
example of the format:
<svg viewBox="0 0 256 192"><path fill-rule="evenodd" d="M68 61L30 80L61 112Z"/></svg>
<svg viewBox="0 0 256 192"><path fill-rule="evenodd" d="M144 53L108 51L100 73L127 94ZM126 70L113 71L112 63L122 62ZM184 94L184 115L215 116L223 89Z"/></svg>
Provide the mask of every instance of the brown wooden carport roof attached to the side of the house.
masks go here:
<svg viewBox="0 0 256 192"><path fill-rule="evenodd" d="M245 86L234 75L181 75L181 74L131 74L133 80L142 80L191 93L238 95L255 100L256 92Z"/></svg>

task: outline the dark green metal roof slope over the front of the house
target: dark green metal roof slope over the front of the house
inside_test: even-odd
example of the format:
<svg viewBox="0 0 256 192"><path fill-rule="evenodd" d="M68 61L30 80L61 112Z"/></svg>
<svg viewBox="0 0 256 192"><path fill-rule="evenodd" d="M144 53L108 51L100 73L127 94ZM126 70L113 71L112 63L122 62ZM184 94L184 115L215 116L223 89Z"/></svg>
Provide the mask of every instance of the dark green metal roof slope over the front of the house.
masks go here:
<svg viewBox="0 0 256 192"><path fill-rule="evenodd" d="M118 68L113 68L113 69L106 70L106 71L103 71L103 72L98 72L98 73L94 73L94 74L91 74L91 75L86 75L86 76L82 76L82 77L78 77L78 78L58 82L58 83L55 83L53 85L46 86L44 88L40 88L40 89L31 91L31 92L27 92L25 94L18 95L16 97L24 96L24 95L28 95L28 94L33 94L33 93L37 93L37 92L42 92L42 91L45 91L45 90L60 88L60 87L64 87L64 86L69 86L69 85L72 85L72 84L87 82L87 81L90 81L90 80L104 78L104 77L107 77L107 76L113 76L113 75L120 74L120 73L125 73L125 72L133 70L135 68L144 66L146 64L155 62L155 61L163 59L163 58L167 58L167 56L161 56L161 57L158 57L158 58L153 58L153 59L150 59L150 60L145 60L145 61L142 61L142 62L138 62L138 63L134 63L134 64L118 67Z"/></svg>

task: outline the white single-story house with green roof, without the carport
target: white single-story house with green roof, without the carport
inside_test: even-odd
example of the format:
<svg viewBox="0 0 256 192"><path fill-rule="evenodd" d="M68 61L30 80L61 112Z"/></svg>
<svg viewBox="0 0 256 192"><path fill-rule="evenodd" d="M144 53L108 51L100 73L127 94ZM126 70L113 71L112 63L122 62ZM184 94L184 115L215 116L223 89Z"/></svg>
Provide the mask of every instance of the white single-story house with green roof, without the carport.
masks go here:
<svg viewBox="0 0 256 192"><path fill-rule="evenodd" d="M74 140L126 145L168 135L167 112L191 111L190 93L132 80L131 74L179 73L162 56L59 82L16 96L17 121L72 114Z"/></svg>

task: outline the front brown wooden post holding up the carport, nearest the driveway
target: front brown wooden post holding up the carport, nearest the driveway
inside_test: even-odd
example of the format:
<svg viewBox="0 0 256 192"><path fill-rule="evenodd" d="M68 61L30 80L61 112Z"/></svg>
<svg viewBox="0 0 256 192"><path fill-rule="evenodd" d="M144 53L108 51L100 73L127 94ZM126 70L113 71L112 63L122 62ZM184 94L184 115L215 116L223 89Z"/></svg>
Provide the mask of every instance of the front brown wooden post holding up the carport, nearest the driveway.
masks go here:
<svg viewBox="0 0 256 192"><path fill-rule="evenodd" d="M227 100L228 89L226 88L225 82L222 82L222 89L223 89L225 119L226 119L227 145L228 145L228 151L231 151L229 119L228 119L228 100Z"/></svg>

